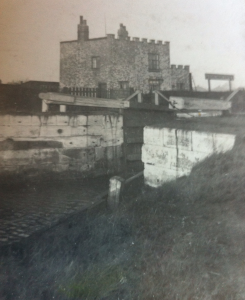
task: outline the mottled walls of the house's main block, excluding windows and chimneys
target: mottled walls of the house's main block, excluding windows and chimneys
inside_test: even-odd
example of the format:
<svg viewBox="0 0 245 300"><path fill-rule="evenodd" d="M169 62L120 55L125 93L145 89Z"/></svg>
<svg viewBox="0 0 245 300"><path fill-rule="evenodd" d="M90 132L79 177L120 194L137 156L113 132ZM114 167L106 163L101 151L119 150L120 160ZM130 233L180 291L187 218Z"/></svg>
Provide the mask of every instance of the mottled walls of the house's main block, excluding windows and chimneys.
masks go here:
<svg viewBox="0 0 245 300"><path fill-rule="evenodd" d="M116 39L114 35L88 41L61 42L60 87L119 89L119 81L149 91L149 79L163 79L161 89L171 89L169 43L146 39ZM148 53L159 54L159 71L149 72ZM92 69L92 57L99 57L99 68Z"/></svg>

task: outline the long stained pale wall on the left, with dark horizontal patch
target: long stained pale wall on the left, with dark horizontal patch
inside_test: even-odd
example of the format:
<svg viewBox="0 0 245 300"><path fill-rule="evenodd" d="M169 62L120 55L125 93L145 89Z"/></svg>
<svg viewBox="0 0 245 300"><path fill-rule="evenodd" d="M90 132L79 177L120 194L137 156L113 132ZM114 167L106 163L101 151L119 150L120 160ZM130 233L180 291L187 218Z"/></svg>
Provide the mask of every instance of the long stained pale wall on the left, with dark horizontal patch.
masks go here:
<svg viewBox="0 0 245 300"><path fill-rule="evenodd" d="M122 115L116 113L1 115L0 173L116 173L122 168L122 126Z"/></svg>

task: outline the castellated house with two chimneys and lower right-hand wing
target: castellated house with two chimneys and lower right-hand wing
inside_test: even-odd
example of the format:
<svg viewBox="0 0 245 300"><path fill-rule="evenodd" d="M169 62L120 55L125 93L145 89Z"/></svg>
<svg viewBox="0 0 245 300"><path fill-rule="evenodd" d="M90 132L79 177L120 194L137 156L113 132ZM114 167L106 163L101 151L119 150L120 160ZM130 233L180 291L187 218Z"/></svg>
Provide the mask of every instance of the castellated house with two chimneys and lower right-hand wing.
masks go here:
<svg viewBox="0 0 245 300"><path fill-rule="evenodd" d="M190 89L189 66L170 66L170 44L130 38L123 24L118 37L89 38L80 17L78 38L60 44L60 88L149 90Z"/></svg>

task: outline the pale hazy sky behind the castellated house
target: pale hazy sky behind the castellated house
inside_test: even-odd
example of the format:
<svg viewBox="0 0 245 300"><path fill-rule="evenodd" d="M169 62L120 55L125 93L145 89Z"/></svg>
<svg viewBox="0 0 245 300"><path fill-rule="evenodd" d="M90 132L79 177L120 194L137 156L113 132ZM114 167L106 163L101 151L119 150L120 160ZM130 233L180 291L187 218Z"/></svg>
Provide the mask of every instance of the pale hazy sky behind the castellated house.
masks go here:
<svg viewBox="0 0 245 300"><path fill-rule="evenodd" d="M59 81L59 42L77 38L80 15L91 38L123 23L170 41L171 64L190 65L196 85L225 73L245 86L245 0L0 0L0 79Z"/></svg>

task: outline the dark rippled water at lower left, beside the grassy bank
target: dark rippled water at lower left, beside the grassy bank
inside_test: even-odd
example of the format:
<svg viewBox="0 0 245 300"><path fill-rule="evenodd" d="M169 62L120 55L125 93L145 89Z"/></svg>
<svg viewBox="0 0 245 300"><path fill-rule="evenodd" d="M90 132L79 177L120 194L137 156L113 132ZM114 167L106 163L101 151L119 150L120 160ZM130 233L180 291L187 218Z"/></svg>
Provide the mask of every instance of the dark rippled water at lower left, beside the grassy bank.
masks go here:
<svg viewBox="0 0 245 300"><path fill-rule="evenodd" d="M0 188L0 246L26 238L82 210L107 188L107 178Z"/></svg>

